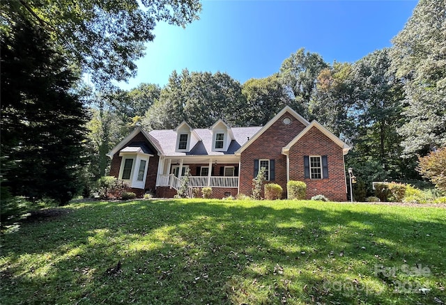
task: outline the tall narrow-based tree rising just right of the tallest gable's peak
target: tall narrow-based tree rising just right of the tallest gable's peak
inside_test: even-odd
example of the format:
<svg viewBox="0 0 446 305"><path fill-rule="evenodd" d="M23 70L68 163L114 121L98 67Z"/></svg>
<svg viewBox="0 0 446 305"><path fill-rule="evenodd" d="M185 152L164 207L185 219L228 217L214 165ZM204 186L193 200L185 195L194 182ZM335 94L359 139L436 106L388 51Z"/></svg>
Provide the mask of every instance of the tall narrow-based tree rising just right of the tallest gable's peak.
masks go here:
<svg viewBox="0 0 446 305"><path fill-rule="evenodd" d="M316 53L305 52L304 48L286 58L280 67L279 76L291 100L291 108L304 117L309 118L309 102L316 78L328 64Z"/></svg>

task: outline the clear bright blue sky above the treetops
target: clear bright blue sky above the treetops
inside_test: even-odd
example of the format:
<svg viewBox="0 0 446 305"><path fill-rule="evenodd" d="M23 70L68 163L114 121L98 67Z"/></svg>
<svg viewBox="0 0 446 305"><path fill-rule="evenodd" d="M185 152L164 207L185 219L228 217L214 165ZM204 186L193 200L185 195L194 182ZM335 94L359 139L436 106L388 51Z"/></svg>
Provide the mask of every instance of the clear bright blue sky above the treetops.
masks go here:
<svg viewBox="0 0 446 305"><path fill-rule="evenodd" d="M417 1L209 1L185 29L159 23L146 56L137 61L140 83L164 86L173 70L226 72L243 84L279 71L301 47L323 59L355 62L390 47Z"/></svg>

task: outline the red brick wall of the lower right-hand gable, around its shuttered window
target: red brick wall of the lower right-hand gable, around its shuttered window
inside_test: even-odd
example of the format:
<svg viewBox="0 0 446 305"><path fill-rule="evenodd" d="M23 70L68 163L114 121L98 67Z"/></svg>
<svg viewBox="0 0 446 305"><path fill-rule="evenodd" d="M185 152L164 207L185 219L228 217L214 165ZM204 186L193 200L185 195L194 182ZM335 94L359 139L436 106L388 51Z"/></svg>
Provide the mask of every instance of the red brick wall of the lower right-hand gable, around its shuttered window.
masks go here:
<svg viewBox="0 0 446 305"><path fill-rule="evenodd" d="M304 156L326 155L328 159L328 179L309 179L304 175ZM322 194L332 201L346 201L346 174L342 148L334 143L321 130L312 127L289 150L290 180L307 184L307 198Z"/></svg>

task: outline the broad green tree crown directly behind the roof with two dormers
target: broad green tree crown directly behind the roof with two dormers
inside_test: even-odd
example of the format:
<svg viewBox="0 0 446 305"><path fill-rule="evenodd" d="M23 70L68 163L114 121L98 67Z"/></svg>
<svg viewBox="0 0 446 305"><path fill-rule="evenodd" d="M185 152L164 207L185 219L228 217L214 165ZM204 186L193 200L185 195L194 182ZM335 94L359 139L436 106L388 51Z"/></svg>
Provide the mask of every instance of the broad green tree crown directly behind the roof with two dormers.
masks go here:
<svg viewBox="0 0 446 305"><path fill-rule="evenodd" d="M205 128L222 118L229 125L239 125L243 112L240 83L226 73L176 71L162 88L160 98L146 112L146 129L173 129L183 120L194 128Z"/></svg>

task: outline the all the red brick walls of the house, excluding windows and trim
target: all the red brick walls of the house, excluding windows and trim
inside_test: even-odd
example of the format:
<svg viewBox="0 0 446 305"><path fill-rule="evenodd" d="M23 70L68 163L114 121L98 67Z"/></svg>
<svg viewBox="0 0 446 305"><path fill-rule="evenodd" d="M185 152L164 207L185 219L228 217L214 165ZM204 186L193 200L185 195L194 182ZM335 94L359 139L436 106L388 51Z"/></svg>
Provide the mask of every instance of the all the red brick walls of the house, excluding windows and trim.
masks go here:
<svg viewBox="0 0 446 305"><path fill-rule="evenodd" d="M260 136L249 140L252 142L248 141L247 146L243 146L245 150L240 153L240 164L213 164L211 169L211 175L213 176L223 175L222 169L224 169L224 166L234 166L235 175L239 176L239 189L214 187L213 198L224 198L229 196L229 194L234 197L237 194L251 195L252 179L254 178L254 160L259 159L274 160L275 178L266 183L274 182L282 186L284 189L282 198L286 198L287 156L282 154L282 148L288 146L302 130L305 130L306 125L295 118L289 110L282 112L282 114ZM284 118L289 118L290 122L285 124ZM293 146L287 147L289 148L289 180L305 182L307 184L307 198L322 194L332 201L346 201L346 174L343 148L338 145L339 142L336 143L318 129L321 128L321 125L317 123L316 125L306 130L306 133ZM135 141L144 141L151 150L157 151L142 132L139 132L122 148ZM328 178L305 178L304 156L327 156ZM119 157L119 153L113 156L110 175L118 177L121 160L122 157ZM146 191L155 193L157 197L173 197L176 195L176 189L156 187L158 162L159 157L157 153L149 158L145 189L132 189L137 196L143 196ZM184 162L184 165L189 166L192 176L197 176L200 175L199 167L207 167L209 164L187 164L187 162ZM169 169L169 173L171 173L171 169Z"/></svg>

